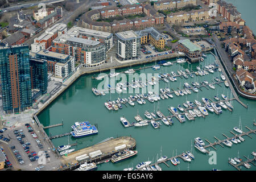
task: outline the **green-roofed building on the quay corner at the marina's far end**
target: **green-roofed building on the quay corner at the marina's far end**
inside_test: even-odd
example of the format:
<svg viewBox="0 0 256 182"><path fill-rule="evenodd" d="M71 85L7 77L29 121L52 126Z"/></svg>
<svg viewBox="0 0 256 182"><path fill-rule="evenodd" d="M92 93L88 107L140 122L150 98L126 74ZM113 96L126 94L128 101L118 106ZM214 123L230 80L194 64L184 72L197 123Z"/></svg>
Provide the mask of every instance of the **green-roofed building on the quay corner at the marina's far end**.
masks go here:
<svg viewBox="0 0 256 182"><path fill-rule="evenodd" d="M189 39L179 40L177 50L185 53L192 63L200 61L202 57L202 49Z"/></svg>

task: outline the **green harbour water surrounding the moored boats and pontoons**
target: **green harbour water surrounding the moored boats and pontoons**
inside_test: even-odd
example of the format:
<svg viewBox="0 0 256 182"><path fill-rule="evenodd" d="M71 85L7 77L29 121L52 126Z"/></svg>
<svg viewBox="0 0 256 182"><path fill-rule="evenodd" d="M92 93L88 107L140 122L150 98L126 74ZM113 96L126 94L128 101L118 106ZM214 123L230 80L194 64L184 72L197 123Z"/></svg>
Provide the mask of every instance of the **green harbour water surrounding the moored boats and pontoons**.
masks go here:
<svg viewBox="0 0 256 182"><path fill-rule="evenodd" d="M207 59L201 63L201 67L204 65L208 65L214 62L214 57L210 53L207 54ZM147 64L155 65L155 63ZM196 71L196 66L199 63L195 64L174 64L170 67L161 67L157 71L153 71L152 68L141 69L136 73L171 73L171 71L177 72L177 69L182 69L185 71L186 68L189 70L192 69ZM134 69L143 68L144 65L140 65L137 67L133 67ZM116 69L115 72L126 71L125 69ZM109 72L106 72L109 73ZM106 94L106 96L95 96L92 92L92 87L97 87L97 85L101 82L99 80L92 79L92 76L95 75L85 75L81 76L71 85L61 96L56 98L42 113L38 115L39 121L43 123L44 126L54 125L56 123L61 123L63 119L64 126L53 127L51 129L46 129L46 133L49 135L57 135L61 133L68 133L71 131L71 125L74 122L81 121L89 121L98 125L98 134L92 135L89 137L82 137L78 139L78 146L72 147L76 150L81 148L92 146L102 140L109 137L118 137L118 136L131 136L135 138L137 141L138 154L133 158L127 159L123 162L113 164L113 163L102 163L98 165L97 170L122 170L127 167L135 167L140 162L145 162L149 160L156 160L160 158L160 150L162 148L162 156L167 155L171 157L173 154L177 155L181 154L183 151L191 151L192 140L196 137L200 137L201 139L208 139L210 142L214 142L217 137L218 139L225 139L222 135L224 133L228 137L233 136L230 131L236 133L233 130L233 127L239 124L239 118L241 116L242 121L242 129L243 131L247 131L245 126L250 127L251 129L255 129L253 126L253 120L255 119L255 110L256 110L256 102L251 100L246 100L244 98L240 98L245 104L248 104L248 108L246 109L241 104L239 104L236 100L232 101L234 106L234 110L231 113L228 110L223 110L223 113L220 115L216 115L214 113L209 113L206 118L196 118L195 121L187 121L185 123L180 123L176 118L173 118L174 125L166 126L162 123L160 129L154 129L151 124L143 127L128 127L125 128L120 122L120 117L125 116L126 119L131 123L135 122L134 116L141 115L144 117L144 111L154 111L154 103L155 109L158 107L158 102L148 102L146 100L146 104L139 105L135 102L135 106L130 106L126 104L123 106L123 109L119 109L118 111L111 110L109 111L104 106L104 102L106 100L110 100L110 94ZM159 88L172 88L177 90L177 88L183 87L184 82L201 82L207 80L208 82L212 82L213 77L219 77L219 72L209 73L209 75L205 76L196 76L194 78L189 77L185 79L184 77L177 77L177 81L165 83L164 81L159 81ZM197 80L198 79L198 80ZM186 100L194 101L198 100L201 102L202 97L212 98L217 95L221 97L221 94L224 93L226 96L230 97L231 91L229 88L226 88L224 83L220 84L221 86L215 85L215 89L206 89L202 88L203 91L198 93L192 92L187 96L176 96L172 94L174 98L168 98L166 100L160 100L159 102L159 110L162 111L164 115L170 115L168 111L168 106L182 105ZM129 97L130 95L135 94L120 94L121 98ZM112 93L111 100L115 100L119 97L119 94ZM170 161L167 163L170 167L167 167L165 164L159 164L163 170L211 170L213 168L221 169L221 170L237 170L228 164L228 158L234 158L237 156L239 151L239 156L241 159L245 160L243 155L249 156L249 158L253 158L251 155L252 151L256 151L256 136L255 134L250 134L252 139L244 136L244 142L240 144L233 144L231 148L224 146L216 146L217 151L217 164L210 165L208 160L210 158L207 154L202 154L198 151L194 146L192 146L192 153L195 155L195 160L192 160L191 163L184 162L181 160L180 164L177 166L173 166ZM204 140L205 141L205 140ZM55 146L60 146L62 144L68 144L68 137L60 137L56 139L52 139L53 144ZM69 143L76 143L76 139L69 136ZM208 144L205 141L205 144ZM210 150L214 150L210 148ZM246 169L242 166L242 170L254 170L255 166L251 165L250 169Z"/></svg>

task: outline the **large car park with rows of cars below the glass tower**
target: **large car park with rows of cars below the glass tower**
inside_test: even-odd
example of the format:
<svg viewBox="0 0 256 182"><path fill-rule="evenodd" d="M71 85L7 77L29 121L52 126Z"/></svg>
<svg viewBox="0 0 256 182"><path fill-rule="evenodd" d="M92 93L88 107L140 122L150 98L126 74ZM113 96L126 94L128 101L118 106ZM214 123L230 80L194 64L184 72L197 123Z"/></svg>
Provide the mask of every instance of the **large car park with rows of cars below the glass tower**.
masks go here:
<svg viewBox="0 0 256 182"><path fill-rule="evenodd" d="M51 151L44 137L40 137L35 123L8 129L3 133L10 138L9 144L1 145L7 151L14 169L47 171L60 166L60 160Z"/></svg>

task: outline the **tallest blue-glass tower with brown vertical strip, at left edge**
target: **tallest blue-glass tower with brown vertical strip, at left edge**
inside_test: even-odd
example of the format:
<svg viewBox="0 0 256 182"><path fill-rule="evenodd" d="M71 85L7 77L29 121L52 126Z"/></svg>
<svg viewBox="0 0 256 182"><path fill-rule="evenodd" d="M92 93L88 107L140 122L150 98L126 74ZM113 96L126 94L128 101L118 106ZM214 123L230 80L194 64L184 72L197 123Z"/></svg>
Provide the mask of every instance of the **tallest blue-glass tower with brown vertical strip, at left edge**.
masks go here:
<svg viewBox="0 0 256 182"><path fill-rule="evenodd" d="M2 102L6 113L16 113L32 106L28 59L28 46L0 47Z"/></svg>

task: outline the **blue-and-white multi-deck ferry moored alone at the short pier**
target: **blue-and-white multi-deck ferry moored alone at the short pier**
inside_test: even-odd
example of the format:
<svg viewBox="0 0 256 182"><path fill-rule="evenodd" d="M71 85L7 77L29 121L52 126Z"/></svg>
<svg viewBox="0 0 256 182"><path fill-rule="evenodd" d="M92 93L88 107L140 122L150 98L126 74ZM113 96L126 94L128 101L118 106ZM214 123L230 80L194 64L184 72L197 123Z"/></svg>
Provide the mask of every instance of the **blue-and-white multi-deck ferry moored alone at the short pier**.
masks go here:
<svg viewBox="0 0 256 182"><path fill-rule="evenodd" d="M89 122L75 122L75 125L72 125L71 127L73 129L73 131L71 131L71 135L73 137L85 137L98 133L96 127L94 125L90 125Z"/></svg>

